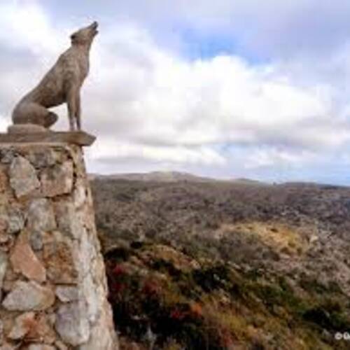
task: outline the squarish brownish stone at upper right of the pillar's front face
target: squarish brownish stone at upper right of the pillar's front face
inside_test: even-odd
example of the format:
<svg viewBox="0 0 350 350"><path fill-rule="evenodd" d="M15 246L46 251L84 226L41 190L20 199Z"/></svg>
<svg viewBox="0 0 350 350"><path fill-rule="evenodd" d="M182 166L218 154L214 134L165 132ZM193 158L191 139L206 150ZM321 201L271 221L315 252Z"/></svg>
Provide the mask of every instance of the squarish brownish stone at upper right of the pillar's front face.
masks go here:
<svg viewBox="0 0 350 350"><path fill-rule="evenodd" d="M73 187L73 163L66 161L41 173L41 188L45 197L70 193Z"/></svg>

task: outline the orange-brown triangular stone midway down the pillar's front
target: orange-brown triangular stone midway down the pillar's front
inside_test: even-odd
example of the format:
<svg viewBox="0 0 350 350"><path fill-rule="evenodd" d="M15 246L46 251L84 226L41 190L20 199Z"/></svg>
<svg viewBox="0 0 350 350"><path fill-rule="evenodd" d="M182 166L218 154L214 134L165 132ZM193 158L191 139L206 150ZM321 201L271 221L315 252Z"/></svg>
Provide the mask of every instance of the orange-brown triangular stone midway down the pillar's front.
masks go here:
<svg viewBox="0 0 350 350"><path fill-rule="evenodd" d="M26 232L18 238L10 255L10 262L13 270L22 273L27 279L38 282L46 280L45 267L31 249Z"/></svg>

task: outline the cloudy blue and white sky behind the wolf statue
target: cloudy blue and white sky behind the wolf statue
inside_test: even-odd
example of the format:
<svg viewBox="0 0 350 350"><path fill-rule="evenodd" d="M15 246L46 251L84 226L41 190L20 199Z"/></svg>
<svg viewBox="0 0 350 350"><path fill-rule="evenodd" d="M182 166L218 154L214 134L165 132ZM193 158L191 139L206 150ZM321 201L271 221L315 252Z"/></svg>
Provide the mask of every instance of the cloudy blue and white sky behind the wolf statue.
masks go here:
<svg viewBox="0 0 350 350"><path fill-rule="evenodd" d="M0 130L97 20L89 172L350 186L349 13L344 0L2 0Z"/></svg>

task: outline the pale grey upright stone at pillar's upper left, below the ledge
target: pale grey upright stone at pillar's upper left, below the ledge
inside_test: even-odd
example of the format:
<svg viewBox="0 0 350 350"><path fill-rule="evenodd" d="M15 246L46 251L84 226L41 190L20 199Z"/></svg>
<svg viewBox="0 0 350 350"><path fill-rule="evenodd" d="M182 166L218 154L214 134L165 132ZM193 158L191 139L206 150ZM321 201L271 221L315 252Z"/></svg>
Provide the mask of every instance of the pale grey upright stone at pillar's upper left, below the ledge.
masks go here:
<svg viewBox="0 0 350 350"><path fill-rule="evenodd" d="M40 187L34 167L23 157L16 157L10 165L10 186L15 190L16 197L29 195Z"/></svg>

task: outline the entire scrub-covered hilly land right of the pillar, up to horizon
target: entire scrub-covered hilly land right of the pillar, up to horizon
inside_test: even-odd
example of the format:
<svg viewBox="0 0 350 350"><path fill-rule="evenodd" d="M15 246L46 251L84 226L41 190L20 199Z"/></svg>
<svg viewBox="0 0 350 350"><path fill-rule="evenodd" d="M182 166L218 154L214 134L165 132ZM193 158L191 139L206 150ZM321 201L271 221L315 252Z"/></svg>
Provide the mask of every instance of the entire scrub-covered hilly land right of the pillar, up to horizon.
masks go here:
<svg viewBox="0 0 350 350"><path fill-rule="evenodd" d="M92 182L125 349L348 349L350 188ZM172 330L169 332L169 330Z"/></svg>

